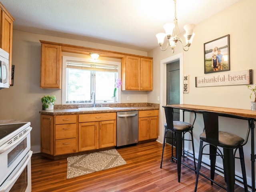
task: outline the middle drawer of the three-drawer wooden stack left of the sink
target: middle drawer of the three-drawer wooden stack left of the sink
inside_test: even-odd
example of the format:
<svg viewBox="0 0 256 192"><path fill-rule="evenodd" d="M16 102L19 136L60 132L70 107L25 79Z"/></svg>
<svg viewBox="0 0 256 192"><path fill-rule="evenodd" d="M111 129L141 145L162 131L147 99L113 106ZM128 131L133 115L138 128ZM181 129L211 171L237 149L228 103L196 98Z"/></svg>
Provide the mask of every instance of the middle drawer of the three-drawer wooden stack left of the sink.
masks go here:
<svg viewBox="0 0 256 192"><path fill-rule="evenodd" d="M76 137L76 124L60 124L55 126L55 139Z"/></svg>

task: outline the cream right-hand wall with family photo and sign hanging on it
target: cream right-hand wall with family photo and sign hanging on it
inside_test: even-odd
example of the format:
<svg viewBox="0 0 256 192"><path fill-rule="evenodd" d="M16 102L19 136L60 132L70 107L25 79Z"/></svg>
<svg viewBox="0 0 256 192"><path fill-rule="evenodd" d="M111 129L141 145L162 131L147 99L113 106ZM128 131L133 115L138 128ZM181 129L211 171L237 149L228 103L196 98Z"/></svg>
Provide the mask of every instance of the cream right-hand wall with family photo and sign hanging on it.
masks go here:
<svg viewBox="0 0 256 192"><path fill-rule="evenodd" d="M154 64L154 90L148 94L148 102L154 101L157 96L164 92L163 89L165 87L161 89L161 78L165 76L161 71L161 67L164 67L162 66L162 61L181 54L183 59L183 63L181 64L183 65L183 74L189 75L189 93L183 94L184 98L181 103L250 109L250 90L245 85L196 88L195 77L208 75L204 74L204 43L230 34L230 71L235 72L252 69L253 84L256 84L256 64L253 57L255 53L254 34L256 33L256 26L254 25L256 23L256 17L253 16L255 12L255 0L240 0L210 19L197 24L194 29L196 35L188 52L182 50L180 43L177 44L178 47L175 48L174 54L172 54L170 49L162 52L159 47L148 52L148 56L153 57ZM221 74L222 72L218 73ZM166 101L163 99L164 97L161 97L160 106L166 104ZM187 116L186 120L189 121L190 117ZM163 138L163 123L165 121L164 111L160 109L160 136L158 138L160 142L162 142ZM223 129L245 136L247 122L227 120L225 118L220 121ZM198 153L199 149L198 135L202 132L202 128L202 116L198 115L194 126L196 153ZM248 144L244 146L249 184L251 182L250 145L249 138ZM236 164L236 172L240 174L239 163Z"/></svg>

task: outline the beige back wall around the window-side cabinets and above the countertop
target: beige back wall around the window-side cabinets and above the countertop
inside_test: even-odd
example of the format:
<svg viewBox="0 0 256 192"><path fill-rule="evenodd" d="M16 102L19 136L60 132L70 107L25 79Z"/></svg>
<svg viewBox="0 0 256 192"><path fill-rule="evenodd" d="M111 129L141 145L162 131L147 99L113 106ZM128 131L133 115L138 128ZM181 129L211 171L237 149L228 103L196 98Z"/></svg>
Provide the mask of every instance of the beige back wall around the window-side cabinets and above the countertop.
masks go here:
<svg viewBox="0 0 256 192"><path fill-rule="evenodd" d="M147 56L146 52L138 50L14 30L12 54L12 64L15 66L14 86L0 90L0 120L31 122L33 152L40 152L41 98L44 95L56 95L55 104L61 104L62 96L61 90L58 89L40 89L41 43L39 40ZM130 96L129 101L126 100L127 96ZM122 91L121 102L147 102L147 92Z"/></svg>

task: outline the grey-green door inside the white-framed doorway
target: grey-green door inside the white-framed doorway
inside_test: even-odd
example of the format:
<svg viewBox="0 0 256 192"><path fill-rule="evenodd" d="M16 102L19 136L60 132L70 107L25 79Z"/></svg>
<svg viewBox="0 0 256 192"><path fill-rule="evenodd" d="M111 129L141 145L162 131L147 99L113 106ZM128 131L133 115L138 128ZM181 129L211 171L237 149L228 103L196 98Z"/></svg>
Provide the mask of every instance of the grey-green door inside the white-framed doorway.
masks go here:
<svg viewBox="0 0 256 192"><path fill-rule="evenodd" d="M166 104L180 104L180 60L166 65ZM180 120L180 110L174 109L174 121ZM172 133L168 132L166 142L172 143Z"/></svg>

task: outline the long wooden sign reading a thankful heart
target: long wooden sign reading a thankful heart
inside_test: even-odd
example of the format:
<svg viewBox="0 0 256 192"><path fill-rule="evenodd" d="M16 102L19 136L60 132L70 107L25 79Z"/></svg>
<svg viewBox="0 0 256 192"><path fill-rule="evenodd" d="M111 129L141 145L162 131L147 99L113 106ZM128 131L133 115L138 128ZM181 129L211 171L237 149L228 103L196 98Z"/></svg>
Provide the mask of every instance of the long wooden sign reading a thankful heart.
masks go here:
<svg viewBox="0 0 256 192"><path fill-rule="evenodd" d="M252 70L216 73L196 77L196 87L252 84Z"/></svg>

